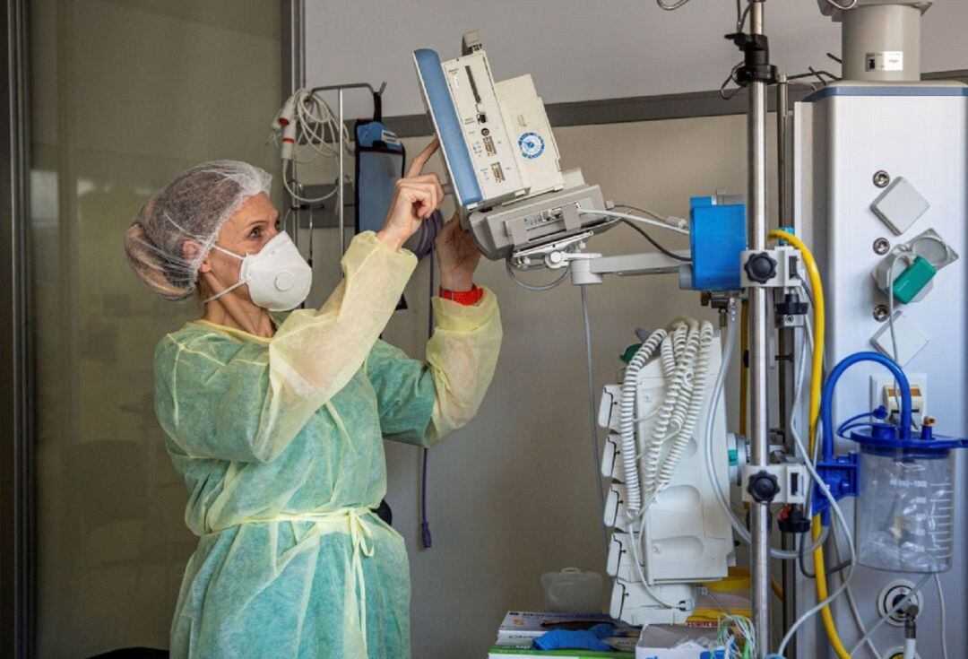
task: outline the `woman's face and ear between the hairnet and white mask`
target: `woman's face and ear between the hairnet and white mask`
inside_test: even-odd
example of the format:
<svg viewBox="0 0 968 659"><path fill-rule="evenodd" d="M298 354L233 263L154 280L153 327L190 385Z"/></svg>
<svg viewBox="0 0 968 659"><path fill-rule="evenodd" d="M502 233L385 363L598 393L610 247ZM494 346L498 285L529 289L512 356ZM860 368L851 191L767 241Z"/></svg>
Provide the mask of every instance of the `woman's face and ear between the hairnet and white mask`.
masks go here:
<svg viewBox="0 0 968 659"><path fill-rule="evenodd" d="M278 222L279 213L268 195L250 196L222 225L215 244L239 256L257 254L279 233ZM213 249L198 266L198 275L212 289L208 293L212 295L238 282L241 267L238 258ZM228 294L249 301L249 286L239 286Z"/></svg>

